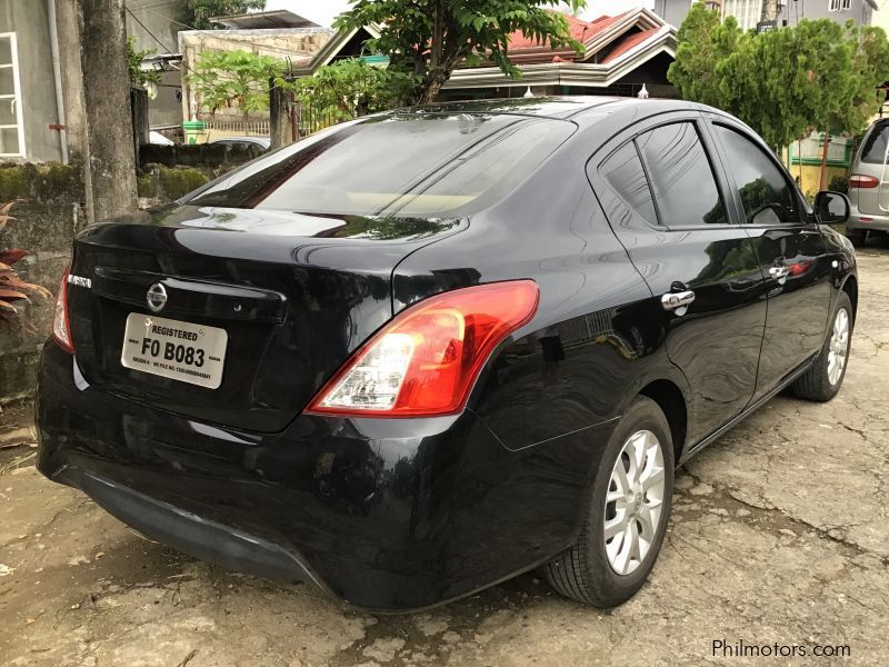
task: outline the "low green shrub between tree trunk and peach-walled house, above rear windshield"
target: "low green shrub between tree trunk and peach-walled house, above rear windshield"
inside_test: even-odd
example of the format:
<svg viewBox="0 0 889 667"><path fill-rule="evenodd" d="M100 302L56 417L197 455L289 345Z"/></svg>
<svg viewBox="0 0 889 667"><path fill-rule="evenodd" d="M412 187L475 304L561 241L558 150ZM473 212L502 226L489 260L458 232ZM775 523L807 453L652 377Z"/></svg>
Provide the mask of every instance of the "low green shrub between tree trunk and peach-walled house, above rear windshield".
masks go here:
<svg viewBox="0 0 889 667"><path fill-rule="evenodd" d="M400 72L349 58L321 67L311 77L292 83L279 80L278 84L293 90L303 106L341 121L397 104L416 81Z"/></svg>

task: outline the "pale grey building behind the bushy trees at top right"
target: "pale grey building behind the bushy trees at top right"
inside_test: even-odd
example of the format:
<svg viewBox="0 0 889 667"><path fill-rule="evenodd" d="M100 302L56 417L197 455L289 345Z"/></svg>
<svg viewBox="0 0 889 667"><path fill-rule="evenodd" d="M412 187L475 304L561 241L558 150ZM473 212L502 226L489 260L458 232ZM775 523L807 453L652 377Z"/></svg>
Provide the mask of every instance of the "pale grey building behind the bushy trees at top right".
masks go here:
<svg viewBox="0 0 889 667"><path fill-rule="evenodd" d="M680 26L691 6L698 0L655 0L655 13L672 26ZM869 26L877 0L709 0L707 2L722 17L735 17L745 30L756 29L763 20L775 26L796 26L801 19L831 19L846 23L851 19L857 26Z"/></svg>

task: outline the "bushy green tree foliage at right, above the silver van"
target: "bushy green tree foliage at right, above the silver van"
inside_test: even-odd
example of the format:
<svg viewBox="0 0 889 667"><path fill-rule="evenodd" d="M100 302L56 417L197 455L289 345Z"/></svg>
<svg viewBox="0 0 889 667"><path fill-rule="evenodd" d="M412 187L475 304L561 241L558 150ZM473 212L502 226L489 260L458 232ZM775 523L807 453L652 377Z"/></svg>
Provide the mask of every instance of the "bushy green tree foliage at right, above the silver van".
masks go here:
<svg viewBox="0 0 889 667"><path fill-rule="evenodd" d="M679 93L737 116L776 150L813 129L857 132L889 79L886 33L851 22L802 20L758 34L697 2L678 39L667 77Z"/></svg>

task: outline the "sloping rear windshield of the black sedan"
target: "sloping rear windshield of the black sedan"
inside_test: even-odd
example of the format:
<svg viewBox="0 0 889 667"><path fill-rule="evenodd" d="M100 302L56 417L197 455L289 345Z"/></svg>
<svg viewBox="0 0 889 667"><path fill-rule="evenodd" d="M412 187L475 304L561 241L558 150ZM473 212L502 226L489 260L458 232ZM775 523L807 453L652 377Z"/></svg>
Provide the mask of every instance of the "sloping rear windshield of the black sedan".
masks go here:
<svg viewBox="0 0 889 667"><path fill-rule="evenodd" d="M356 216L456 216L528 177L575 130L507 115L352 121L246 165L183 203Z"/></svg>

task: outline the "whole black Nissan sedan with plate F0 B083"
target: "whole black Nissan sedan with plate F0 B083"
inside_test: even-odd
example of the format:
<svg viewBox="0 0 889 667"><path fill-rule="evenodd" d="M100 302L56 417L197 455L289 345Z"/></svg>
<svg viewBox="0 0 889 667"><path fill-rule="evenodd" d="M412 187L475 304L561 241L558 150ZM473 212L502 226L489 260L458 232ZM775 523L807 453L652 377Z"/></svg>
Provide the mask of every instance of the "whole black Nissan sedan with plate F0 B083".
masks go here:
<svg viewBox="0 0 889 667"><path fill-rule="evenodd" d="M495 100L319 132L82 232L39 468L146 535L349 605L542 567L623 603L673 469L842 385L851 245L735 118Z"/></svg>

